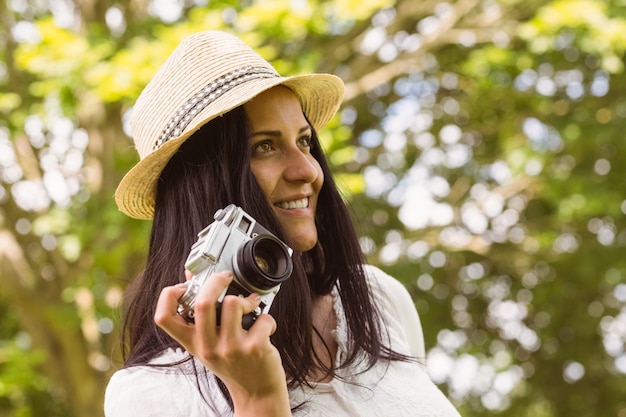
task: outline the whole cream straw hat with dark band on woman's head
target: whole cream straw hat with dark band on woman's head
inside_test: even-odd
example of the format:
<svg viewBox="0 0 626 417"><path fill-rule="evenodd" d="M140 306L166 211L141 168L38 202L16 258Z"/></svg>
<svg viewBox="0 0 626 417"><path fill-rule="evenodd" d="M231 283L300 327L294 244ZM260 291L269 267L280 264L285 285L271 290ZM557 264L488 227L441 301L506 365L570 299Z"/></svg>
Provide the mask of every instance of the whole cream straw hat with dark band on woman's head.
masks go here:
<svg viewBox="0 0 626 417"><path fill-rule="evenodd" d="M281 77L225 32L199 32L183 40L135 103L130 127L140 161L115 192L119 209L151 219L157 180L183 142L210 120L279 84L294 92L316 130L337 112L345 90L330 74Z"/></svg>

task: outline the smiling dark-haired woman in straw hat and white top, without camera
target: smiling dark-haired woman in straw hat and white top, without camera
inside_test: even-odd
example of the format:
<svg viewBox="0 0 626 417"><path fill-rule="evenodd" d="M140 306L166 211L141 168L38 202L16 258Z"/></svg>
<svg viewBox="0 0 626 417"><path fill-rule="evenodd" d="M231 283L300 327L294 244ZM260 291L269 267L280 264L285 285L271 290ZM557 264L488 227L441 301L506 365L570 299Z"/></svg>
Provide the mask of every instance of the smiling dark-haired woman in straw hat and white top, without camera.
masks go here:
<svg viewBox="0 0 626 417"><path fill-rule="evenodd" d="M332 75L281 77L215 31L183 41L142 92L131 119L141 160L115 197L153 226L128 289L108 417L458 416L421 365L407 291L364 266L320 149L316 132L343 93ZM260 297L218 302L229 271L201 287L194 322L178 313L196 234L231 203L294 250L271 314L249 330L242 318Z"/></svg>

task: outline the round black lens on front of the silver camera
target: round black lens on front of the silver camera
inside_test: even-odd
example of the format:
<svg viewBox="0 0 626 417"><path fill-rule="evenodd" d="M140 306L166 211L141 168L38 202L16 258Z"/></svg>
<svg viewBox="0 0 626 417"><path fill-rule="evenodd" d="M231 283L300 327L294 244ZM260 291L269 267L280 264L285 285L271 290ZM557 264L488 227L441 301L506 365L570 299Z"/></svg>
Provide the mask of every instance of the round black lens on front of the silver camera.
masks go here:
<svg viewBox="0 0 626 417"><path fill-rule="evenodd" d="M244 243L233 269L241 284L267 291L291 276L293 262L285 245L271 235L257 235Z"/></svg>

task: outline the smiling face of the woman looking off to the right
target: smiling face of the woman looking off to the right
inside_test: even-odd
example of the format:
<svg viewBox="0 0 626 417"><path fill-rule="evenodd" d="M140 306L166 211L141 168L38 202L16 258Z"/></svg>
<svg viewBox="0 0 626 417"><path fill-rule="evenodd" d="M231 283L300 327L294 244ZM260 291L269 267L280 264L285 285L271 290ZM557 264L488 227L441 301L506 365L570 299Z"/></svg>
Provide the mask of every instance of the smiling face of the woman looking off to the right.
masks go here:
<svg viewBox="0 0 626 417"><path fill-rule="evenodd" d="M313 155L313 131L296 96L274 87L244 105L250 120L250 167L299 251L317 243L315 209L324 174Z"/></svg>

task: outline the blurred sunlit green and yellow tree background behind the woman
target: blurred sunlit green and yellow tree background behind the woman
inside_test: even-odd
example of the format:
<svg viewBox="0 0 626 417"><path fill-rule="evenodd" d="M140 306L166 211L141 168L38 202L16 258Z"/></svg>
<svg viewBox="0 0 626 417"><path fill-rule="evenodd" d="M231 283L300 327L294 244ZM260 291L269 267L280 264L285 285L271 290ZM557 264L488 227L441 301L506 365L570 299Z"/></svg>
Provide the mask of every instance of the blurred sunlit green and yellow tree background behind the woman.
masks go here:
<svg viewBox="0 0 626 417"><path fill-rule="evenodd" d="M620 0L0 4L0 416L102 414L149 222L122 123L180 39L347 84L321 132L464 416L626 417Z"/></svg>

